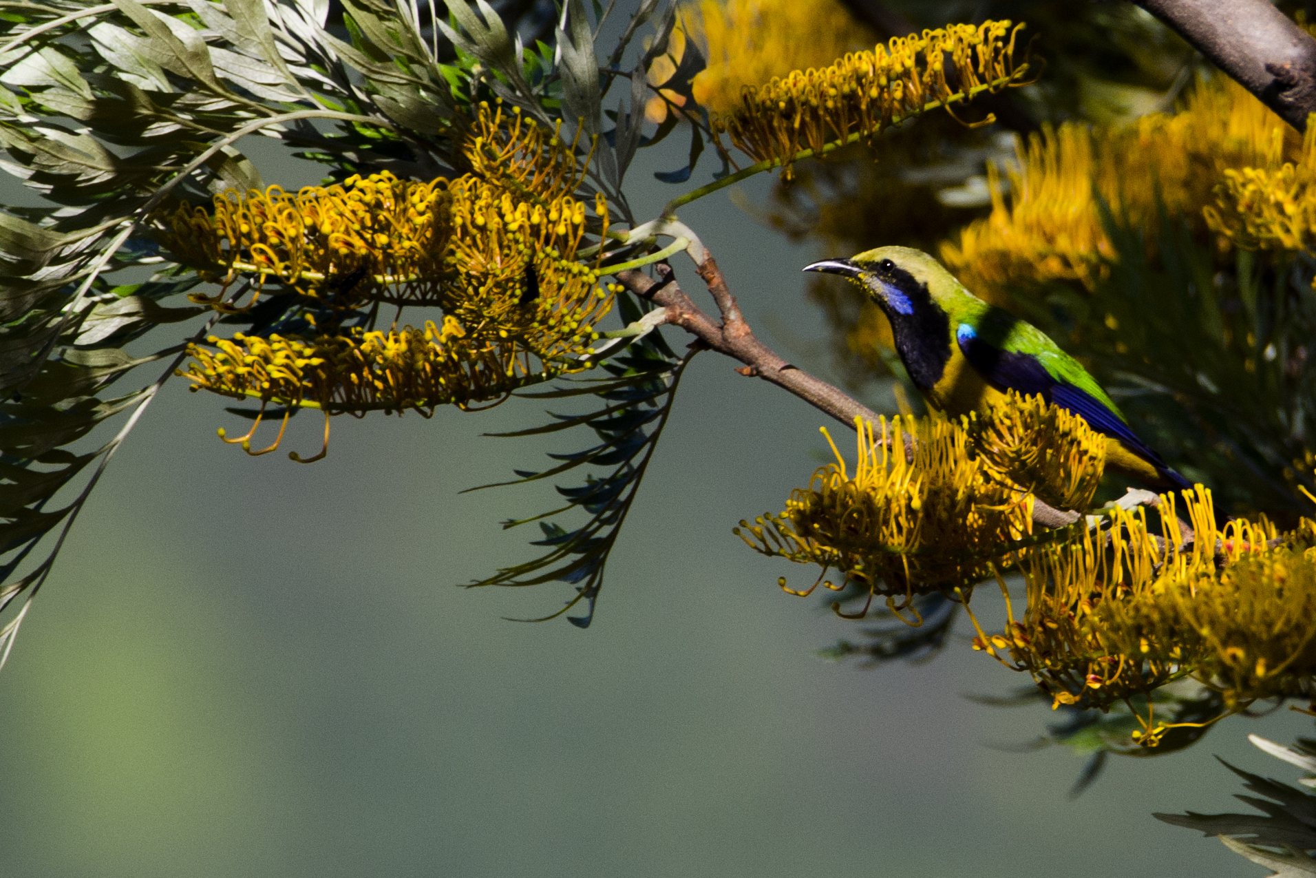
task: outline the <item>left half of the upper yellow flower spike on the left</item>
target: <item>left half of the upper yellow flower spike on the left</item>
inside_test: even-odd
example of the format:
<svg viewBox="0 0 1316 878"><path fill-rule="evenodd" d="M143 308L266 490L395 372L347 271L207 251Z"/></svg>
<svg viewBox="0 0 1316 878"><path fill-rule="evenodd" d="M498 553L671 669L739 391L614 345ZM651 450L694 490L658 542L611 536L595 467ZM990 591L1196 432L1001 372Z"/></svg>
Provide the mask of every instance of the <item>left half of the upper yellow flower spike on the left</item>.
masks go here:
<svg viewBox="0 0 1316 878"><path fill-rule="evenodd" d="M220 311L243 274L287 284L334 308L388 297L424 299L443 271L451 232L447 180L399 180L388 171L349 178L342 186L308 186L296 195L228 191L211 212L180 205L155 217L157 234L174 255L218 283L216 296L193 296ZM336 279L359 278L343 290ZM396 292L395 292L396 288ZM250 307L250 305L247 305Z"/></svg>

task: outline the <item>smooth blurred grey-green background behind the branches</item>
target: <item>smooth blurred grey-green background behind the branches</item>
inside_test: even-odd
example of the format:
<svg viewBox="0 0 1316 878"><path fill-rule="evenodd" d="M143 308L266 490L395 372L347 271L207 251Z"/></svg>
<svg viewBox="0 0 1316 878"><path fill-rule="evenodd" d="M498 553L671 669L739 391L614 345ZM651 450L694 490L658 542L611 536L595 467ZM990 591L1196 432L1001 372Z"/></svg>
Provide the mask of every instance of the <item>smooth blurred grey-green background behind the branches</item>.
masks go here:
<svg viewBox="0 0 1316 878"><path fill-rule="evenodd" d="M637 215L679 191L651 178L684 161L676 141L637 159ZM318 182L243 146L268 182ZM761 337L844 380L799 271L817 242L737 207L772 186L682 219ZM0 674L0 874L1261 874L1150 812L1233 810L1217 754L1291 782L1245 736L1287 741L1308 717L1115 757L1071 800L1083 758L1020 752L1050 711L963 698L1026 682L971 652L963 623L921 665L820 658L855 624L783 594L776 578L800 571L730 529L808 480L824 416L733 365L703 354L687 374L588 631L504 620L555 611L562 583L459 587L529 558L530 534L497 523L550 499L459 492L583 441L480 436L541 423L542 401L336 419L328 459L300 466L224 445L221 400L172 382ZM890 382L861 391L891 411ZM286 448L317 450L318 423L299 420Z"/></svg>

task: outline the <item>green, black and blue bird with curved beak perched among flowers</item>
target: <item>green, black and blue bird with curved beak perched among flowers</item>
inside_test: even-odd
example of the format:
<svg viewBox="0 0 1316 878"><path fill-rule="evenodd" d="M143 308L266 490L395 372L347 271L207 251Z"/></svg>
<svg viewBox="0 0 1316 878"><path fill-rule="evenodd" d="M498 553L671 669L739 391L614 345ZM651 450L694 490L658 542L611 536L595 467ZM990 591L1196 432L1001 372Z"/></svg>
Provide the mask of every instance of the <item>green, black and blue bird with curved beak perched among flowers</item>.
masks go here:
<svg viewBox="0 0 1316 878"><path fill-rule="evenodd" d="M1007 391L1041 395L1105 436L1105 466L1157 490L1191 490L1129 426L1082 365L1037 326L970 292L921 250L887 246L804 271L858 284L891 321L896 353L930 405L986 415Z"/></svg>

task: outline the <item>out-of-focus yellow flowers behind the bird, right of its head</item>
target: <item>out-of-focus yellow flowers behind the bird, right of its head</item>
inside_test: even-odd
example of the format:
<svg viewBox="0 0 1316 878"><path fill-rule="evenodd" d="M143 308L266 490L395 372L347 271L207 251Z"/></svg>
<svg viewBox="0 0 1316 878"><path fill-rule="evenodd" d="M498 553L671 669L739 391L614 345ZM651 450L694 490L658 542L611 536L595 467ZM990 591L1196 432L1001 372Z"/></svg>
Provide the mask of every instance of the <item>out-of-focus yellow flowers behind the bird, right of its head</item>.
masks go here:
<svg viewBox="0 0 1316 878"><path fill-rule="evenodd" d="M1046 128L1020 146L1008 187L988 167L991 215L944 244L941 259L980 294L1050 280L1091 288L1113 258L1101 201L1140 224L1155 217L1159 199L1204 233L1203 209L1229 168L1278 170L1300 151L1295 132L1224 76L1200 83L1180 113L1121 128Z"/></svg>

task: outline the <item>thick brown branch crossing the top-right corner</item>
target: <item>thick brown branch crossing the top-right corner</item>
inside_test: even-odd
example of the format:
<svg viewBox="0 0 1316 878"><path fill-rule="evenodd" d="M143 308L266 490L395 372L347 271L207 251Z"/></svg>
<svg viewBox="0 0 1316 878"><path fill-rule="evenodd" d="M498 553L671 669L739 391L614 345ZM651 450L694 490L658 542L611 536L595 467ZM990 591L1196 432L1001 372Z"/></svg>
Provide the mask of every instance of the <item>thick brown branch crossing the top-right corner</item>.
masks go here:
<svg viewBox="0 0 1316 878"><path fill-rule="evenodd" d="M1134 0L1303 132L1316 113L1316 39L1270 0Z"/></svg>

